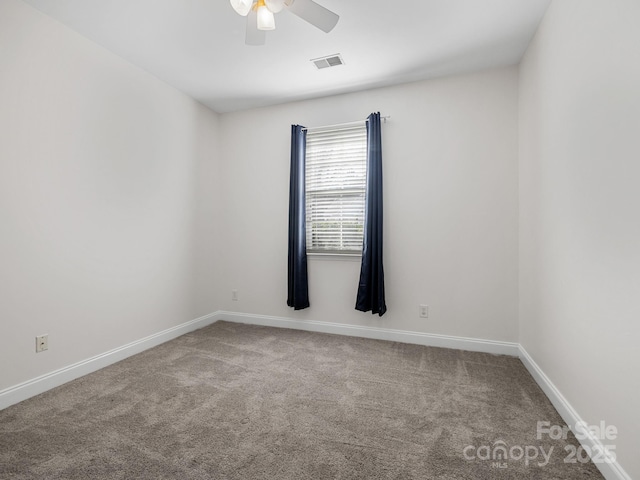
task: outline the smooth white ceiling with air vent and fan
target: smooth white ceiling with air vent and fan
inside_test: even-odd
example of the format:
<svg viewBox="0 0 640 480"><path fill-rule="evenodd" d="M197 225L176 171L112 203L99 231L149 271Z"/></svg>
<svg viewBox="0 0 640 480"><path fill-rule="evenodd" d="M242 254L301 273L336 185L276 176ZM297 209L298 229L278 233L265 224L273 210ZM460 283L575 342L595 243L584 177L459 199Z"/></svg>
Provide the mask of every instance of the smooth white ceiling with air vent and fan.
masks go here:
<svg viewBox="0 0 640 480"><path fill-rule="evenodd" d="M518 63L551 0L317 0L324 33L290 12L244 44L228 0L24 0L217 112ZM317 70L312 58L342 54Z"/></svg>

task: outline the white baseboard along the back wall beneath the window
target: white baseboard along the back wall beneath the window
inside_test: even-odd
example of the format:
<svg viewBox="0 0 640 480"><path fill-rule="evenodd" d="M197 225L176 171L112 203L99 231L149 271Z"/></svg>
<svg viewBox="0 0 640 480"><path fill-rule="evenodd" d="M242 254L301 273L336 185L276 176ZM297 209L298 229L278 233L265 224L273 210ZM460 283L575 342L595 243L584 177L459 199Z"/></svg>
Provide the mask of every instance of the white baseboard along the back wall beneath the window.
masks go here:
<svg viewBox="0 0 640 480"><path fill-rule="evenodd" d="M453 337L433 333L393 330L390 328L364 327L360 325L345 325L343 323L321 322L317 320L298 320L284 317L272 317L268 315L225 311L217 312L216 318L217 320L226 320L235 323L293 328L295 330L333 333L336 335L373 338L376 340L389 340L392 342L412 343L416 345L426 345L429 347L454 348L457 350L470 350L472 352L511 355L514 357L517 357L519 354L517 343L500 342L495 340Z"/></svg>

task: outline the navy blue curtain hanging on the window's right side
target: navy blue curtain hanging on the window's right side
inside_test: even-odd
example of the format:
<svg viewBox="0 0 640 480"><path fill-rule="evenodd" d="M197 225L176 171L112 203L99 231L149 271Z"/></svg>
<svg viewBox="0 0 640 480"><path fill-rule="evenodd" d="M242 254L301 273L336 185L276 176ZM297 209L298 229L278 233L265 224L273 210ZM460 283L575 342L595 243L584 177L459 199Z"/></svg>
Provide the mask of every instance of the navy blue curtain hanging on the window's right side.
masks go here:
<svg viewBox="0 0 640 480"><path fill-rule="evenodd" d="M367 119L367 186L364 241L356 310L384 315L384 269L382 267L382 139L380 113Z"/></svg>

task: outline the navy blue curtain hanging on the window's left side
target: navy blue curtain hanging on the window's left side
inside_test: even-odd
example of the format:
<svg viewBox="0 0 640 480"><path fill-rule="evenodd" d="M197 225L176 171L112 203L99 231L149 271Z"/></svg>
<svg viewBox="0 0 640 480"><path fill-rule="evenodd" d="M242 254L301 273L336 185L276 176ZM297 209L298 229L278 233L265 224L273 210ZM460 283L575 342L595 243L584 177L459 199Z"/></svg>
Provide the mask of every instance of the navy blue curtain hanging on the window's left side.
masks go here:
<svg viewBox="0 0 640 480"><path fill-rule="evenodd" d="M309 306L307 236L305 217L305 152L307 131L291 125L291 174L289 176L289 284L287 305L295 310Z"/></svg>

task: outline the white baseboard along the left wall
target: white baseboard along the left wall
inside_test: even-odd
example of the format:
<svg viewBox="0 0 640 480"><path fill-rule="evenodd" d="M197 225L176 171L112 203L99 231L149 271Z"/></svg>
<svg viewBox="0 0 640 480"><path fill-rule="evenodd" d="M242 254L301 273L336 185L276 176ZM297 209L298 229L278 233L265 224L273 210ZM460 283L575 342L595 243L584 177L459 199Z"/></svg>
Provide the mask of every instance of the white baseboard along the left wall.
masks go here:
<svg viewBox="0 0 640 480"><path fill-rule="evenodd" d="M206 327L216 321L216 314L205 315L195 320L190 320L181 325L169 328L162 332L149 335L148 337L128 343L122 347L109 350L108 352L96 355L73 365L60 368L53 372L41 375L40 377L28 380L24 383L6 388L0 391L0 410L14 405L18 402L34 397L41 393L58 387L64 383L83 377L101 368L112 365L120 360L143 352L149 348L173 340L174 338L192 332L202 327Z"/></svg>

